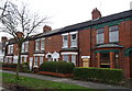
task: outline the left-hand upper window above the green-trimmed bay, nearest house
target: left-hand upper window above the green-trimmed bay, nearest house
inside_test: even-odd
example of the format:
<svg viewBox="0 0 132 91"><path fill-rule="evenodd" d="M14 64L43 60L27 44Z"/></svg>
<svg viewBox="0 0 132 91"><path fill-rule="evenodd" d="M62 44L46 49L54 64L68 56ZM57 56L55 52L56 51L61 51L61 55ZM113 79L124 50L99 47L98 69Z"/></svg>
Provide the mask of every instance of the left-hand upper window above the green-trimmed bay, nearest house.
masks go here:
<svg viewBox="0 0 132 91"><path fill-rule="evenodd" d="M105 30L99 29L97 30L97 44L103 44L105 43Z"/></svg>

